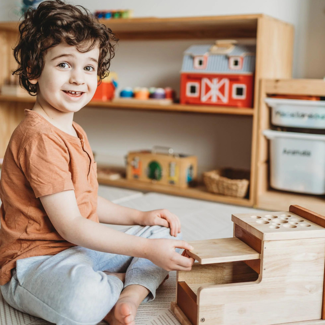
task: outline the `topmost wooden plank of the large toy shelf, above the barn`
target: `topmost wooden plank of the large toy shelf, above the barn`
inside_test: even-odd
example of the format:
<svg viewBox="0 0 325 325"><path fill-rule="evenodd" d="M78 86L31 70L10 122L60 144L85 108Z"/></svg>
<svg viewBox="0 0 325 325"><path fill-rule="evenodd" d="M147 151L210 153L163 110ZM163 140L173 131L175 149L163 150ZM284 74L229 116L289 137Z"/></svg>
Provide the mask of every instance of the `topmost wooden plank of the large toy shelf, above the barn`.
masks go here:
<svg viewBox="0 0 325 325"><path fill-rule="evenodd" d="M99 19L121 40L202 39L256 37L257 20L263 14ZM0 30L17 31L17 21L0 22Z"/></svg>

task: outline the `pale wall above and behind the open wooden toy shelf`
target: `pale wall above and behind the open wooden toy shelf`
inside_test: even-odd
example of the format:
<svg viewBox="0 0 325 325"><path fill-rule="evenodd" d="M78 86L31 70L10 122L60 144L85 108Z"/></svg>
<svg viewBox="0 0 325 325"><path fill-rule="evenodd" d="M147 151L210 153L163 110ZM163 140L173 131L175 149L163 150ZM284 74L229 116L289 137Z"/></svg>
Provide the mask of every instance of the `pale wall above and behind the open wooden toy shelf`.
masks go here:
<svg viewBox="0 0 325 325"><path fill-rule="evenodd" d="M295 26L293 77L322 78L325 45L325 0L79 0L69 1L97 9L134 9L135 17L177 17L265 13ZM0 19L17 19L9 0L0 5ZM179 89L182 53L191 41L120 41L111 71L125 86L172 86ZM123 164L129 150L153 145L199 157L199 171L219 166L250 167L249 117L157 113L130 110L82 109L74 120L87 132L97 160ZM101 154L99 156L99 154Z"/></svg>

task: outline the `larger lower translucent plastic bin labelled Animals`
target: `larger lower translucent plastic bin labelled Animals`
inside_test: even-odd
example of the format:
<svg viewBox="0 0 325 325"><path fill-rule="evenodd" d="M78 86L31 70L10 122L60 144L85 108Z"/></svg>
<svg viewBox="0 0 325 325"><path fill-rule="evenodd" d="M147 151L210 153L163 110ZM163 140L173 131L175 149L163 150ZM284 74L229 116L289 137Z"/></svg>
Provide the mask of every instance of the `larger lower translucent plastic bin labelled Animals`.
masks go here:
<svg viewBox="0 0 325 325"><path fill-rule="evenodd" d="M265 130L272 188L325 194L325 135Z"/></svg>

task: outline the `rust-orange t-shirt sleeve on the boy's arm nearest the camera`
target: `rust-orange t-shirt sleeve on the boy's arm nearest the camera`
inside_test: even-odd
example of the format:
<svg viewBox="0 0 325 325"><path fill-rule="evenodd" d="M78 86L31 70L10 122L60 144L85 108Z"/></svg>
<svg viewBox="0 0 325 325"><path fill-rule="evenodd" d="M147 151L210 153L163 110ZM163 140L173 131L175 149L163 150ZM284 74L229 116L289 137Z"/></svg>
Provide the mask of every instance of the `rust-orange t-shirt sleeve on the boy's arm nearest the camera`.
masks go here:
<svg viewBox="0 0 325 325"><path fill-rule="evenodd" d="M64 143L53 134L45 133L29 141L19 156L20 168L36 198L74 189L69 162Z"/></svg>

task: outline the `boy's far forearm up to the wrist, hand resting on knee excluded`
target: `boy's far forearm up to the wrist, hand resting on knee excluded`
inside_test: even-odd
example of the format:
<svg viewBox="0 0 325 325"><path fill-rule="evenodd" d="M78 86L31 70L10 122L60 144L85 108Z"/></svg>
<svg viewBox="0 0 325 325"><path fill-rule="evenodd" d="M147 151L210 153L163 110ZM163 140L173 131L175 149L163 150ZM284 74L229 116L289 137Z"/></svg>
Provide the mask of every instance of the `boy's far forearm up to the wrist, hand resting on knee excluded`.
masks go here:
<svg viewBox="0 0 325 325"><path fill-rule="evenodd" d="M126 208L98 196L97 215L99 222L112 225L140 225L143 212Z"/></svg>

